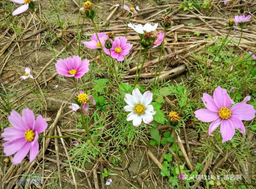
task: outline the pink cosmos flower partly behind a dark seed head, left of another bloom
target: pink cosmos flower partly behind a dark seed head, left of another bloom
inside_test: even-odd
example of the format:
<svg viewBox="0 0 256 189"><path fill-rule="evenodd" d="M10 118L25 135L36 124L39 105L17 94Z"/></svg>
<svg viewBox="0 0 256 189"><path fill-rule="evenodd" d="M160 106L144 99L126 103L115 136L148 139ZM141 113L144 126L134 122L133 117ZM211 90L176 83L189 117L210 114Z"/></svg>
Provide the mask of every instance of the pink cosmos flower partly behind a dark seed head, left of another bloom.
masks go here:
<svg viewBox="0 0 256 189"><path fill-rule="evenodd" d="M106 36L106 34L104 32L101 32L100 34L98 34L98 37L99 37L99 40L97 38L97 35L96 33L94 33L92 36L91 36L91 40L89 42L82 42L87 48L91 48L91 49L97 49L97 48L101 48L101 45L102 47L104 47L104 44L105 44L105 40L108 38L108 36ZM99 42L101 44L99 44Z"/></svg>

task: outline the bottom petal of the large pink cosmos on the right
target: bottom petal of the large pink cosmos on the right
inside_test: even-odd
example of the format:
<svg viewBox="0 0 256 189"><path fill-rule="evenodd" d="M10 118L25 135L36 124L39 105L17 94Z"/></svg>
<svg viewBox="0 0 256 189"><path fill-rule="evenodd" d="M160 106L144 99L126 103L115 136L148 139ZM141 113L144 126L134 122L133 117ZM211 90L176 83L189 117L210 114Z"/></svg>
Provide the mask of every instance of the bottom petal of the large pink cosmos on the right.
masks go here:
<svg viewBox="0 0 256 189"><path fill-rule="evenodd" d="M229 119L222 119L221 136L222 143L231 140L235 134L235 128Z"/></svg>

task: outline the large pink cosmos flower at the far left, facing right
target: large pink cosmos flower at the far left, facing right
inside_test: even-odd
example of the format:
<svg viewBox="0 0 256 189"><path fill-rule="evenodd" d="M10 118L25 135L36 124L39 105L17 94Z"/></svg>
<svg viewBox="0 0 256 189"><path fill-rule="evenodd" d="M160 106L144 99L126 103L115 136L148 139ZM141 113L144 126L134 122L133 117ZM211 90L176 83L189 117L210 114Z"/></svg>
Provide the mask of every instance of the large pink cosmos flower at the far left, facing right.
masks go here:
<svg viewBox="0 0 256 189"><path fill-rule="evenodd" d="M17 152L12 162L19 164L30 151L29 160L32 162L39 150L38 134L44 132L48 123L42 115L38 115L35 120L33 111L28 108L22 110L22 117L18 112L12 110L8 121L13 127L4 128L4 132L1 134L3 140L8 141L3 143L3 152L6 156Z"/></svg>

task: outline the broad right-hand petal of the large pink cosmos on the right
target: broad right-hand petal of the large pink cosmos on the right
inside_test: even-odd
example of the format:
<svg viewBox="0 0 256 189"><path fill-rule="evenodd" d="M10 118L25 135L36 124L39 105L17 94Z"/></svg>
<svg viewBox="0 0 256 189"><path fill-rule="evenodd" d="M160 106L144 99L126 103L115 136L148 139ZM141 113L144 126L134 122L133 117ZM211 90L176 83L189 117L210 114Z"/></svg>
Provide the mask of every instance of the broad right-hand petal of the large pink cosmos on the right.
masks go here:
<svg viewBox="0 0 256 189"><path fill-rule="evenodd" d="M245 103L237 103L230 108L231 116L237 117L240 120L250 121L255 118L256 110L252 105Z"/></svg>

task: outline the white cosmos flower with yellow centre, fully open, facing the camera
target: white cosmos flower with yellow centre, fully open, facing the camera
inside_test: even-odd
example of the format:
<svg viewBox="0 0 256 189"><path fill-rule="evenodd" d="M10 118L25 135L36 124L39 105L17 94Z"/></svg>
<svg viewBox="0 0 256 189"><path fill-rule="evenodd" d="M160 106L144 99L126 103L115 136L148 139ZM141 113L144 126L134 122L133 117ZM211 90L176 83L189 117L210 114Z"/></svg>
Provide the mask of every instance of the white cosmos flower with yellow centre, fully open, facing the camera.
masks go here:
<svg viewBox="0 0 256 189"><path fill-rule="evenodd" d="M127 121L132 121L135 127L138 127L143 119L143 122L148 124L153 121L153 115L157 112L150 105L153 99L153 93L150 91L144 92L143 96L138 88L135 88L131 94L124 95L124 101L128 104L124 107L124 111L131 111L127 115Z"/></svg>

